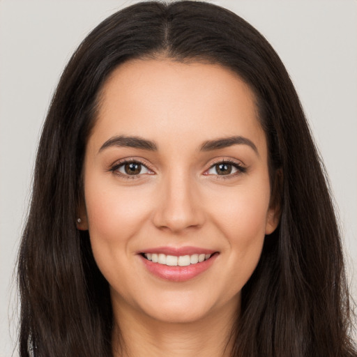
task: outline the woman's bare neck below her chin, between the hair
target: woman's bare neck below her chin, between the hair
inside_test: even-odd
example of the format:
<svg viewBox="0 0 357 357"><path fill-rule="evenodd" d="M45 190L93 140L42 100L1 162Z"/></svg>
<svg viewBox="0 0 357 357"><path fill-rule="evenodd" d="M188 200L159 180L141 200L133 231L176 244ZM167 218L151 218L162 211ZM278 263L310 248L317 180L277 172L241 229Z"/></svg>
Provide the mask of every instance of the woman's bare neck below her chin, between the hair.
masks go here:
<svg viewBox="0 0 357 357"><path fill-rule="evenodd" d="M114 357L229 357L236 305L198 321L158 321L127 308L114 309Z"/></svg>

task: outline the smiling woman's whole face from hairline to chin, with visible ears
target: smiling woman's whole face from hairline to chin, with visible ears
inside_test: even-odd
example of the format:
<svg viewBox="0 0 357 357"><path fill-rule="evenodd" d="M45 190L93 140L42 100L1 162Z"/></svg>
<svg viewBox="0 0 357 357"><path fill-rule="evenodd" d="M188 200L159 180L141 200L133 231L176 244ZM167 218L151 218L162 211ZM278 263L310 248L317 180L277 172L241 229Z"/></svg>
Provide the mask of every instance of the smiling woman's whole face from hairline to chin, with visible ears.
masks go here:
<svg viewBox="0 0 357 357"><path fill-rule="evenodd" d="M86 146L79 226L114 311L183 322L237 310L278 224L270 199L255 97L236 74L168 59L114 70Z"/></svg>

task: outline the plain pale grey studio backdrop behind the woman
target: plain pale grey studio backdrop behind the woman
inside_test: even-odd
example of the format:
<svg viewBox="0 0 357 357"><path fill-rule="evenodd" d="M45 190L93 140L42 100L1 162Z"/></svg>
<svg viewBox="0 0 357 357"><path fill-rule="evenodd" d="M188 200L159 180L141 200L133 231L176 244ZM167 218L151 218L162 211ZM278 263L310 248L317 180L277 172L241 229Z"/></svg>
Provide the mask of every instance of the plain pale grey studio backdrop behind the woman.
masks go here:
<svg viewBox="0 0 357 357"><path fill-rule="evenodd" d="M86 34L135 2L0 0L0 357L17 337L15 259L50 98ZM357 2L211 2L261 31L291 75L331 180L357 299Z"/></svg>

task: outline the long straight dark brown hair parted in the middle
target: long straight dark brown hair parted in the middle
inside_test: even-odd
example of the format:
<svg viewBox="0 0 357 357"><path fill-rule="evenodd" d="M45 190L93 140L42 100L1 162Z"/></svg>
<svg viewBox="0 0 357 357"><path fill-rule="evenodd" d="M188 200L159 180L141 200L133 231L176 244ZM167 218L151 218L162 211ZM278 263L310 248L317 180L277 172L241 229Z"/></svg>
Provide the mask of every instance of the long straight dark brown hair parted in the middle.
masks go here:
<svg viewBox="0 0 357 357"><path fill-rule="evenodd" d="M243 287L232 356L356 357L340 233L287 70L245 20L197 1L137 3L115 13L63 72L38 147L18 261L20 356L112 355L109 287L88 232L75 225L82 163L105 79L125 61L159 55L234 70L254 91L266 132L281 220Z"/></svg>

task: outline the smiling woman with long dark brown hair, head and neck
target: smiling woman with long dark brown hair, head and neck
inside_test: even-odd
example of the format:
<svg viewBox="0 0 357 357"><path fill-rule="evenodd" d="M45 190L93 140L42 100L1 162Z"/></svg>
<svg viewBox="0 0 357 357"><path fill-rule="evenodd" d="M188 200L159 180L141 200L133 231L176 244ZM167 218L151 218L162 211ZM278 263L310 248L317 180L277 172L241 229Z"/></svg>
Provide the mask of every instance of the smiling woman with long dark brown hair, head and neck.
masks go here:
<svg viewBox="0 0 357 357"><path fill-rule="evenodd" d="M19 259L21 356L356 356L339 231L277 54L139 3L64 71Z"/></svg>

